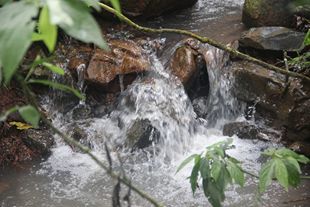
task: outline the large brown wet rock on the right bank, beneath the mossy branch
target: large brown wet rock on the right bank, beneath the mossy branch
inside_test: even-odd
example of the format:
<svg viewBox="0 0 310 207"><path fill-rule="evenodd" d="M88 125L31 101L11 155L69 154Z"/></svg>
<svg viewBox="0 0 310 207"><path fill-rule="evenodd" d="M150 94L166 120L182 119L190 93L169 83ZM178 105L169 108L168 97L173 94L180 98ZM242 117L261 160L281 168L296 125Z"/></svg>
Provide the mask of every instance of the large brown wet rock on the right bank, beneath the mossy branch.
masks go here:
<svg viewBox="0 0 310 207"><path fill-rule="evenodd" d="M285 75L261 66L238 61L232 64L235 76L234 95L255 103L255 119L275 130L286 129L287 139L310 139L310 84L289 78L291 84L283 99Z"/></svg>

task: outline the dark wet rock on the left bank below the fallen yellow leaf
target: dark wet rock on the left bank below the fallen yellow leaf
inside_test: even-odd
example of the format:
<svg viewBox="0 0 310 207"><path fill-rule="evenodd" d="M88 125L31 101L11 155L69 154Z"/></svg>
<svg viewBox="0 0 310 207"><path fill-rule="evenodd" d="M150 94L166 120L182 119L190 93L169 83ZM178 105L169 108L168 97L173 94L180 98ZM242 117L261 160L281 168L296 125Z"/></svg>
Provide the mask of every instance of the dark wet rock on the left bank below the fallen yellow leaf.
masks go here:
<svg viewBox="0 0 310 207"><path fill-rule="evenodd" d="M40 154L50 152L54 143L53 135L46 130L28 129L23 131L23 141L30 148L35 148Z"/></svg>

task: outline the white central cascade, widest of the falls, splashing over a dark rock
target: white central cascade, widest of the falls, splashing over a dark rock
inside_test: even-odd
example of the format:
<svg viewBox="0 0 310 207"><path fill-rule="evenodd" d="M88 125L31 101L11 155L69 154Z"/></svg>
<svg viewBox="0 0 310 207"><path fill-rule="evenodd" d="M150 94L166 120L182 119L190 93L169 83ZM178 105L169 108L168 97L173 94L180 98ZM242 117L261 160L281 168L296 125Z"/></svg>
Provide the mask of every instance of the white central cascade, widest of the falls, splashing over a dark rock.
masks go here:
<svg viewBox="0 0 310 207"><path fill-rule="evenodd" d="M152 71L122 93L111 118L121 126L117 143L124 142L126 132L136 120L147 119L160 133L158 148L162 156L171 156L188 147L196 114L181 82L171 77L154 55L151 59Z"/></svg>

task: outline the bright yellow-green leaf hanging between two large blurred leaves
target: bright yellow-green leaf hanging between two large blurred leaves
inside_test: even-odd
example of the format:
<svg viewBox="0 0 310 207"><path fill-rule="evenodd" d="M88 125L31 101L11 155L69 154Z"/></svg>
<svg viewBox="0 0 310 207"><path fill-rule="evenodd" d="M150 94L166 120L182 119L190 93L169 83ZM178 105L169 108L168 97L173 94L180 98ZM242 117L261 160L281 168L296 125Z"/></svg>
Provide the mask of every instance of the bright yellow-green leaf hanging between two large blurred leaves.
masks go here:
<svg viewBox="0 0 310 207"><path fill-rule="evenodd" d="M50 24L47 7L43 7L39 17L40 36L50 53L53 53L57 41L57 26Z"/></svg>

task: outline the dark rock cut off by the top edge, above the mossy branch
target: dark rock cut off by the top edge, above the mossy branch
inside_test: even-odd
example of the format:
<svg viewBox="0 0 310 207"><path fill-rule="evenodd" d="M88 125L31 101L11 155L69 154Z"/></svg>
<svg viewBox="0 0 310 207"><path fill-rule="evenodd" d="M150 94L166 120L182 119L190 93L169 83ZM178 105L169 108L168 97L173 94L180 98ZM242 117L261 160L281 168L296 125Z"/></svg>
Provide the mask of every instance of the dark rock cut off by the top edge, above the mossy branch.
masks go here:
<svg viewBox="0 0 310 207"><path fill-rule="evenodd" d="M197 0L120 0L122 13L127 17L149 18L193 6ZM106 12L102 12L104 16Z"/></svg>

